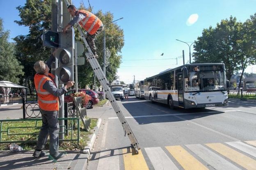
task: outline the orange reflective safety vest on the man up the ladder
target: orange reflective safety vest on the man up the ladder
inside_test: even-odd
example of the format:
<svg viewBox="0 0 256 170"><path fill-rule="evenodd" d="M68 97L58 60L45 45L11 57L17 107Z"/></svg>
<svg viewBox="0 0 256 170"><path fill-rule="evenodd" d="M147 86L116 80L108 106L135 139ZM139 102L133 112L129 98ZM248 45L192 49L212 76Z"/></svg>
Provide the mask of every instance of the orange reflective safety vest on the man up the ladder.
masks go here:
<svg viewBox="0 0 256 170"><path fill-rule="evenodd" d="M78 14L86 14L86 17L79 21L79 24L89 34L93 35L103 24L101 20L89 11L78 10Z"/></svg>

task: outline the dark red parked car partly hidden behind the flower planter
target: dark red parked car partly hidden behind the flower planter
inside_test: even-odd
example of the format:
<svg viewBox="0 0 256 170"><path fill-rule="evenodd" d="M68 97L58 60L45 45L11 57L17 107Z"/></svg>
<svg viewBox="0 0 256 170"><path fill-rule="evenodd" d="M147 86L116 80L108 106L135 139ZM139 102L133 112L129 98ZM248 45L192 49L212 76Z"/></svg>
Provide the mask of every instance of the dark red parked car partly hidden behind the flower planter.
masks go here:
<svg viewBox="0 0 256 170"><path fill-rule="evenodd" d="M94 104L99 102L98 94L90 89L78 89L78 92L84 91L87 95L91 96L91 100L89 100L86 108L91 109ZM75 93L75 89L69 90L64 94L64 102L73 102L73 98L70 96L71 94Z"/></svg>

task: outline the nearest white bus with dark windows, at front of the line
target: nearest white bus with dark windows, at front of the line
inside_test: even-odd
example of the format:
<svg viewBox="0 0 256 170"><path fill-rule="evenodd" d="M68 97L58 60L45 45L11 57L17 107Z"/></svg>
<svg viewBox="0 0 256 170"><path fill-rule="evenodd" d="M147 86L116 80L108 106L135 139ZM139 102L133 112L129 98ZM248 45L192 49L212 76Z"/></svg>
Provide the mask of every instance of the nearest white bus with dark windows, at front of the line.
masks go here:
<svg viewBox="0 0 256 170"><path fill-rule="evenodd" d="M229 86L223 63L186 64L146 78L144 95L172 109L227 106Z"/></svg>

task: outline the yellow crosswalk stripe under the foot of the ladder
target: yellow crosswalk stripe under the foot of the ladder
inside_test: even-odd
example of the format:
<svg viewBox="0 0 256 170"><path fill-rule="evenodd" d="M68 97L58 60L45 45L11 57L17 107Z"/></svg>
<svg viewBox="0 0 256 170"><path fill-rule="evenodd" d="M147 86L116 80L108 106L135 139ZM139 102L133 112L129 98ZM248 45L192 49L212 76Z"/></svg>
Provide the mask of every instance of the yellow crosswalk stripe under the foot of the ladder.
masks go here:
<svg viewBox="0 0 256 170"><path fill-rule="evenodd" d="M148 170L148 165L142 152L136 154L135 149L123 149L123 161L125 170Z"/></svg>

